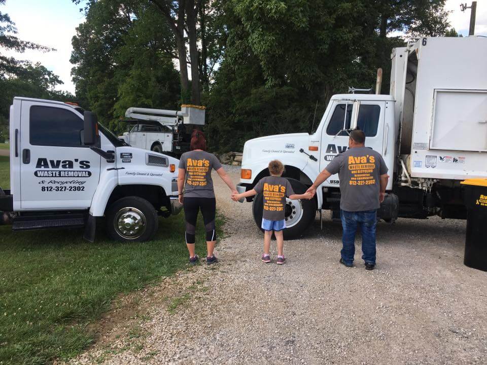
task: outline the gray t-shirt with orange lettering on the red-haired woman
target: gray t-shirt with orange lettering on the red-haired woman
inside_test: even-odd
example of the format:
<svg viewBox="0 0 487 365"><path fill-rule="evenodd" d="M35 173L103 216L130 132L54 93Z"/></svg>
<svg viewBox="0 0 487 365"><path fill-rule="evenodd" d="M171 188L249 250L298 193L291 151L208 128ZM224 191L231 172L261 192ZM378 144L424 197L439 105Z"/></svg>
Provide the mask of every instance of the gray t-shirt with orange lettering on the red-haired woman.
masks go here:
<svg viewBox="0 0 487 365"><path fill-rule="evenodd" d="M215 198L212 169L222 164L218 158L206 151L190 151L181 155L179 168L186 170L184 196L187 198Z"/></svg>

